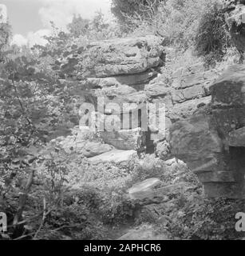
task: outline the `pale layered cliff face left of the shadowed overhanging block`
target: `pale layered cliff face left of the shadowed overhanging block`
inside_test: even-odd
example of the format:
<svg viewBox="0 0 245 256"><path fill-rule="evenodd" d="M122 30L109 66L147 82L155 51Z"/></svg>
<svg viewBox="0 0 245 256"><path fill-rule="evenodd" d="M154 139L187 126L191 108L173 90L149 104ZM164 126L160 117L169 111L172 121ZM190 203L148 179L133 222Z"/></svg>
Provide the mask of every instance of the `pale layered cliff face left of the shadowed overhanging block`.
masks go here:
<svg viewBox="0 0 245 256"><path fill-rule="evenodd" d="M205 70L204 64L198 63L176 70L169 86L160 75L167 55L164 39L155 36L93 42L89 46L82 59L86 76L83 86L93 92L95 101L103 98L105 107L97 107L97 119L105 124L112 119L118 122L113 129L100 132L106 143L119 150L149 152L155 146L157 154L166 159L168 143L164 140L172 123L188 118L210 102L208 88L217 72ZM156 107L155 116L149 114L151 106ZM164 111L164 118L160 111Z"/></svg>

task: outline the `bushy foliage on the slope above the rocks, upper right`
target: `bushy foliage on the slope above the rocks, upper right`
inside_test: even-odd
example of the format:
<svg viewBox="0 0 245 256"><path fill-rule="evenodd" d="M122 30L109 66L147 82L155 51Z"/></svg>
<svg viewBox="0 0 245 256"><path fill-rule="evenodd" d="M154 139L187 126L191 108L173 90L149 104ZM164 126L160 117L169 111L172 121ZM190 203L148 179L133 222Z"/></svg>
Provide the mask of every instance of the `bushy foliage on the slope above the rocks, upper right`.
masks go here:
<svg viewBox="0 0 245 256"><path fill-rule="evenodd" d="M154 2L155 6L151 1L147 3L142 6L137 3L136 10L131 8L129 14L124 13L126 6L132 3L118 3L117 8L126 8L122 14L133 34L160 35L168 45L182 52L195 46L200 56L206 56L207 62L208 58L220 62L231 46L222 1L168 0Z"/></svg>

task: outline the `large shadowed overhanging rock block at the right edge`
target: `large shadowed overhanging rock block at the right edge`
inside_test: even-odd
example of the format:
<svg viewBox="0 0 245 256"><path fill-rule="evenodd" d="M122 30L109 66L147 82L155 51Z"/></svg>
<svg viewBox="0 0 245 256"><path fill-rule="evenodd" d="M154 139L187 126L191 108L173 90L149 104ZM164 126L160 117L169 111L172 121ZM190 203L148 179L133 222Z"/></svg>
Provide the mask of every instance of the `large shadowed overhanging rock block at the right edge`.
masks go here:
<svg viewBox="0 0 245 256"><path fill-rule="evenodd" d="M245 66L229 67L210 89L211 103L170 129L172 154L208 197L245 198Z"/></svg>

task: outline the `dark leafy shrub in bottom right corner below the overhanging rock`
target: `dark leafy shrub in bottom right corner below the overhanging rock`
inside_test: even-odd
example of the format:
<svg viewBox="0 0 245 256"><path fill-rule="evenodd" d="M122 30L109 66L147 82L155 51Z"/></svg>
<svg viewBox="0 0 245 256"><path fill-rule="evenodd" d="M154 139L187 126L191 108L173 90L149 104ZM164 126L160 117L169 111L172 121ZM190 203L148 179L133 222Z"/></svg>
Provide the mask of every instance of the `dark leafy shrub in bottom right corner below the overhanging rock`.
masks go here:
<svg viewBox="0 0 245 256"><path fill-rule="evenodd" d="M188 198L182 209L172 213L169 231L174 237L192 240L222 240L243 237L235 231L235 214L244 200Z"/></svg>

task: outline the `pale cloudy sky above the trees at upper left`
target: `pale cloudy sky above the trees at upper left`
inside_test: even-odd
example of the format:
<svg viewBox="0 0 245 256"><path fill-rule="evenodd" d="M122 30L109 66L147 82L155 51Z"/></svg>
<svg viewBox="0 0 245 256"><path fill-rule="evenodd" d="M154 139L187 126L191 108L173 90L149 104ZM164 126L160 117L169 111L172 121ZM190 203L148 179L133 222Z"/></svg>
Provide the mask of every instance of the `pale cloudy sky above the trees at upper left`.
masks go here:
<svg viewBox="0 0 245 256"><path fill-rule="evenodd" d="M13 42L18 45L45 43L41 38L49 35L50 21L65 29L73 14L82 18L93 18L101 10L110 18L110 0L0 0L7 7L8 18L13 29Z"/></svg>

